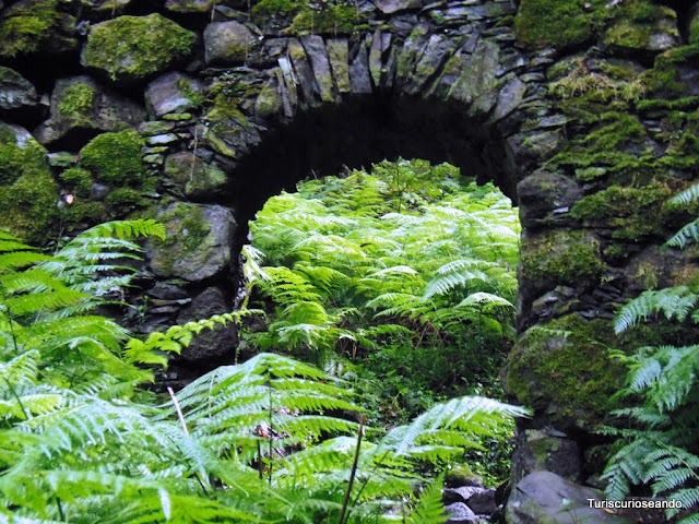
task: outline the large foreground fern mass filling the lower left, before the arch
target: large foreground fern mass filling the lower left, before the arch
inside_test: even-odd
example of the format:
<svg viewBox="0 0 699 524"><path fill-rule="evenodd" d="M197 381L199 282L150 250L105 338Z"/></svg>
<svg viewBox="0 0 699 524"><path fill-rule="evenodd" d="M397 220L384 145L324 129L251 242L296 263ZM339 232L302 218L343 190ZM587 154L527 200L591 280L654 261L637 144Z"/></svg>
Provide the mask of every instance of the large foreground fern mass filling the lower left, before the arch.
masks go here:
<svg viewBox="0 0 699 524"><path fill-rule="evenodd" d="M424 483L416 466L525 415L462 397L380 432L348 416L358 406L346 383L272 354L158 398L140 386L147 367L247 312L145 340L92 313L128 284L109 261L135 257L125 237L141 234L162 227L98 226L51 257L0 238L2 523L437 524L438 487L408 508Z"/></svg>

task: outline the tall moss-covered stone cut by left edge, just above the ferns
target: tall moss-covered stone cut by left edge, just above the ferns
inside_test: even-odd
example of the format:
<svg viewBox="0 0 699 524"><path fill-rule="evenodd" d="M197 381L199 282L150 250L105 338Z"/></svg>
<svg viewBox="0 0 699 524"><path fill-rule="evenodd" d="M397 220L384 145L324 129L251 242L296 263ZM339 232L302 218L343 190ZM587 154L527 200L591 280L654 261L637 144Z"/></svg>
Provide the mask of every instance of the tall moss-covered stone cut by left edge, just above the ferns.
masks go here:
<svg viewBox="0 0 699 524"><path fill-rule="evenodd" d="M58 217L46 150L23 129L0 124L0 230L45 243Z"/></svg>

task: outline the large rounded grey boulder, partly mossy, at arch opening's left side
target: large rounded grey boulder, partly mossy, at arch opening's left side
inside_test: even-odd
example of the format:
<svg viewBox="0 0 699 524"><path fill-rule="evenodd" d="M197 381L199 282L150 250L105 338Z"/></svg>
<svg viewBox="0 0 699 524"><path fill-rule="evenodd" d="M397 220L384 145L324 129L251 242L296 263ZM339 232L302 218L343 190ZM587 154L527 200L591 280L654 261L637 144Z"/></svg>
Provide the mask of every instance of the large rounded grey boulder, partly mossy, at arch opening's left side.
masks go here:
<svg viewBox="0 0 699 524"><path fill-rule="evenodd" d="M236 222L221 205L175 202L157 213L164 240L152 239L147 255L159 277L199 282L229 269Z"/></svg>

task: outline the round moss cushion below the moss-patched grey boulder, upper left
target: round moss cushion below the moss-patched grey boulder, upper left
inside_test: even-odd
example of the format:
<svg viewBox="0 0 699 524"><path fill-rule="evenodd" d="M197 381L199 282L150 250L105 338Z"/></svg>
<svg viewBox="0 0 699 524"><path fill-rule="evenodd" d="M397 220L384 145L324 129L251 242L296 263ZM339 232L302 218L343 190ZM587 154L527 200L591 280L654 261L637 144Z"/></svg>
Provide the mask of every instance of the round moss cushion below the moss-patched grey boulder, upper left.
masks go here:
<svg viewBox="0 0 699 524"><path fill-rule="evenodd" d="M115 186L138 186L145 177L141 147L143 138L133 130L103 133L80 152L80 167L99 181Z"/></svg>

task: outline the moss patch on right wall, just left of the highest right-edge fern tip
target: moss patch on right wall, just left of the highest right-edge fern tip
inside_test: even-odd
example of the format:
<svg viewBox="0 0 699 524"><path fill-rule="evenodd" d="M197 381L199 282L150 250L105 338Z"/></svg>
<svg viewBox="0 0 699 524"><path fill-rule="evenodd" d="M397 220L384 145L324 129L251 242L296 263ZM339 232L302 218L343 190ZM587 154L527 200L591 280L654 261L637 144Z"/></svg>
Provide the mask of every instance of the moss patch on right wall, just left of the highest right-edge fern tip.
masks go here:
<svg viewBox="0 0 699 524"><path fill-rule="evenodd" d="M662 233L661 212L670 194L670 188L663 184L612 186L582 199L570 215L589 225L614 228L613 238L637 241Z"/></svg>

